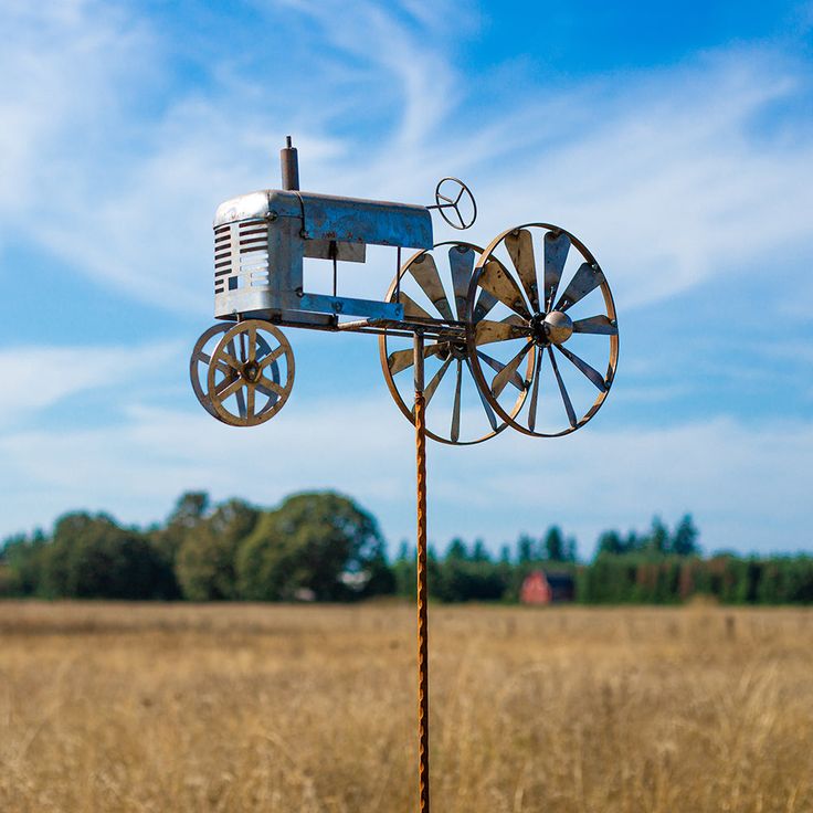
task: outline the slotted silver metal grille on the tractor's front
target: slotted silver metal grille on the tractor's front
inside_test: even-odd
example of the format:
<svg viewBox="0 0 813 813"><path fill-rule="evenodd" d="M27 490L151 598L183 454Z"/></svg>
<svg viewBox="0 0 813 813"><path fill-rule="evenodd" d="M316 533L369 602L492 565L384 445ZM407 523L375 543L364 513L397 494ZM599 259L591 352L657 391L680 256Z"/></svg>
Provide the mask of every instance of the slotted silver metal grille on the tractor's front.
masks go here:
<svg viewBox="0 0 813 813"><path fill-rule="evenodd" d="M264 220L214 230L214 293L268 285L268 226Z"/></svg>

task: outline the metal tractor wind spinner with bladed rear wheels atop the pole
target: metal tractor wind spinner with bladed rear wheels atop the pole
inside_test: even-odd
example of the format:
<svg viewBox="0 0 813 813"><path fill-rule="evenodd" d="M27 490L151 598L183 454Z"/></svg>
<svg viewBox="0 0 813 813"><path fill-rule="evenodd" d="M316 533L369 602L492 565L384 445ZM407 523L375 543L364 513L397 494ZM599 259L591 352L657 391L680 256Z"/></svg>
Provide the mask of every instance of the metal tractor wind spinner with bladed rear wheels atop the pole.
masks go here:
<svg viewBox="0 0 813 813"><path fill-rule="evenodd" d="M214 217L220 323L190 361L211 415L252 426L283 408L294 353L281 326L377 335L384 379L410 422L405 371L420 336L426 434L442 443L478 443L507 426L563 435L596 413L615 374L619 329L604 274L573 234L534 222L485 247L434 243L432 211L458 230L476 218L461 181L443 179L427 207L340 198L299 191L291 138L281 158L282 189L228 200ZM395 250L393 282L382 299L340 296L339 267L363 264L368 245ZM415 252L402 262L404 249ZM330 264L331 291L308 288L306 260Z"/></svg>

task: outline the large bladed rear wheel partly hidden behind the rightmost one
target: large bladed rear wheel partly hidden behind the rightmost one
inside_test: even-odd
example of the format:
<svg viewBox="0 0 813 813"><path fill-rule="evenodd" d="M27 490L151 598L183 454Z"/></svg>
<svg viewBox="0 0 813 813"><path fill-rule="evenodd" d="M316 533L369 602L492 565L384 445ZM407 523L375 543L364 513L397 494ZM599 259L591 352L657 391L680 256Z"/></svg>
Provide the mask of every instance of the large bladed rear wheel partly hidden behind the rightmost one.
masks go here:
<svg viewBox="0 0 813 813"><path fill-rule="evenodd" d="M482 443L506 427L493 405L478 387L466 342L467 297L493 299L488 292L473 283L473 273L481 249L471 243L439 243L431 250L420 251L402 266L399 279L393 281L387 302L400 302L404 320L431 323L445 320L456 326L457 338L431 339L424 342L424 399L426 402L426 434L440 443L469 445ZM435 326L436 327L436 326ZM381 368L387 386L398 408L414 421L414 352L411 337L388 332L380 337ZM500 369L499 362L484 350L484 363ZM528 374L530 374L528 372ZM506 414L521 406L526 395L525 382L519 374L509 378L501 393L500 404Z"/></svg>

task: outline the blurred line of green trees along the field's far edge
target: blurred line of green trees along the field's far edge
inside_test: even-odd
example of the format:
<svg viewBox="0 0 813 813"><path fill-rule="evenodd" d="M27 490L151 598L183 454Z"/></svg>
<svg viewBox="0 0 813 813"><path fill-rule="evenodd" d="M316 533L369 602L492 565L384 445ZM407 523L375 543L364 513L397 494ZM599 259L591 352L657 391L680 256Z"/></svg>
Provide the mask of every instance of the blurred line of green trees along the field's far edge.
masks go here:
<svg viewBox="0 0 813 813"><path fill-rule="evenodd" d="M690 516L669 529L603 532L590 562L552 526L493 556L482 540L431 548L431 595L443 602L516 602L537 570L572 579L583 603L813 602L810 557L701 556ZM391 559L374 517L348 497L297 494L273 509L241 499L212 505L182 495L167 520L123 527L106 514L74 511L50 534L0 545L0 596L188 601L353 601L413 596L414 548Z"/></svg>

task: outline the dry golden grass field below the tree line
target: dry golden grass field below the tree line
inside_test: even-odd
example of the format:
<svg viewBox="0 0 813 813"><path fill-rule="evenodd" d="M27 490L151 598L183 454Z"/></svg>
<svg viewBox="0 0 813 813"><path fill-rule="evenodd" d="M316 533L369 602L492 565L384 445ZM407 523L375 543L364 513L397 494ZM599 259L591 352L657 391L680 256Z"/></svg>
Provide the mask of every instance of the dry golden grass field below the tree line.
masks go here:
<svg viewBox="0 0 813 813"><path fill-rule="evenodd" d="M437 813L813 811L813 613L433 608ZM0 811L414 811L414 620L0 604Z"/></svg>

